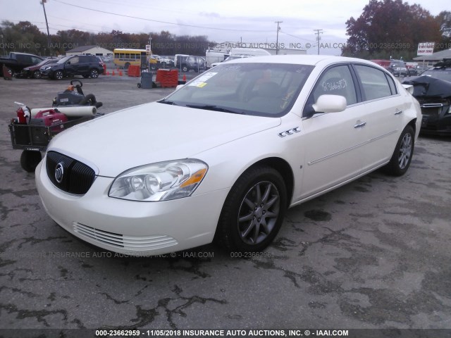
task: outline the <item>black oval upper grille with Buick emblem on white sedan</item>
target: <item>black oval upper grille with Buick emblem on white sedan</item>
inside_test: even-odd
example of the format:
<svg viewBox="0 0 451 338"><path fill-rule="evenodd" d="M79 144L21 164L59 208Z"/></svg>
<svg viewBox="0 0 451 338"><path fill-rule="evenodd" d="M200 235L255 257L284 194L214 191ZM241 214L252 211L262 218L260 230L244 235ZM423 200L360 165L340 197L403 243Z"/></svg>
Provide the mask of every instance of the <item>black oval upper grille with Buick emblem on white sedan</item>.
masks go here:
<svg viewBox="0 0 451 338"><path fill-rule="evenodd" d="M46 168L51 182L70 194L86 194L96 177L85 163L56 151L47 153Z"/></svg>

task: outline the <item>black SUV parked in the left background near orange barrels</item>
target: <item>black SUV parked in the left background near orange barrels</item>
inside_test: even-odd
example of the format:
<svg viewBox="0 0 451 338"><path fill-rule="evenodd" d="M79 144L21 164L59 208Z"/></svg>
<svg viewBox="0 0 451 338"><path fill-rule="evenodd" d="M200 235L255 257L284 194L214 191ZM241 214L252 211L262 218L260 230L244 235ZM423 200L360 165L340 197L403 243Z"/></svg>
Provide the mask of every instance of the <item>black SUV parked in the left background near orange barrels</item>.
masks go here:
<svg viewBox="0 0 451 338"><path fill-rule="evenodd" d="M56 80L63 77L71 77L82 75L83 77L99 77L104 73L102 61L94 55L71 55L61 58L60 61L53 65L44 65L39 69L42 75Z"/></svg>

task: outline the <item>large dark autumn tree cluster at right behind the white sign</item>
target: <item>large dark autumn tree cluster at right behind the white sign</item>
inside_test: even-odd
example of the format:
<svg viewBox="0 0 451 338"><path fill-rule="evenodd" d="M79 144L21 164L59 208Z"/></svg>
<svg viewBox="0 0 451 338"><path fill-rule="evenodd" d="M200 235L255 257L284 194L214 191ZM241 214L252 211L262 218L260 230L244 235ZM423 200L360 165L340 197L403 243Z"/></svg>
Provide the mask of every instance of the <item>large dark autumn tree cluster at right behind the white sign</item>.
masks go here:
<svg viewBox="0 0 451 338"><path fill-rule="evenodd" d="M451 12L434 16L402 0L370 0L346 27L349 38L343 56L411 60L420 42L434 42L434 51L451 49Z"/></svg>

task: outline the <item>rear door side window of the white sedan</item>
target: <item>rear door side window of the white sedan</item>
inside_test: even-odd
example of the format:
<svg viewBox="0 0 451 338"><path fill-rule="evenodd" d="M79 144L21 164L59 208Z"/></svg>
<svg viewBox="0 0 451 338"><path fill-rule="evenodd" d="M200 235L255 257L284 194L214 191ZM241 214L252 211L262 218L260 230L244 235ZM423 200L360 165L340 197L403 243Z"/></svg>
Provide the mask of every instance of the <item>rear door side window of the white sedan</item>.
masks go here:
<svg viewBox="0 0 451 338"><path fill-rule="evenodd" d="M392 88L395 87L395 84L392 82L390 85L383 70L368 65L354 65L354 69L362 83L362 95L364 101L381 99L396 94L393 93L393 90L395 89Z"/></svg>

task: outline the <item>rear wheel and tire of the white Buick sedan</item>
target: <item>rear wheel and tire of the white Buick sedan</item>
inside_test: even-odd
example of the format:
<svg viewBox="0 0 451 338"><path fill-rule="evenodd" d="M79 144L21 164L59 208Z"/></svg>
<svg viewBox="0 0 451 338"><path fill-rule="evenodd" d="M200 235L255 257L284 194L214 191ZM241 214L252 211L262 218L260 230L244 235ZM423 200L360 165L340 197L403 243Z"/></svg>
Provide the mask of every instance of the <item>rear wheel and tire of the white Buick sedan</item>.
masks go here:
<svg viewBox="0 0 451 338"><path fill-rule="evenodd" d="M414 154L415 131L411 125L402 130L401 136L395 146L390 162L383 168L385 173L392 176L402 176L409 169Z"/></svg>

